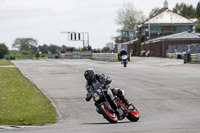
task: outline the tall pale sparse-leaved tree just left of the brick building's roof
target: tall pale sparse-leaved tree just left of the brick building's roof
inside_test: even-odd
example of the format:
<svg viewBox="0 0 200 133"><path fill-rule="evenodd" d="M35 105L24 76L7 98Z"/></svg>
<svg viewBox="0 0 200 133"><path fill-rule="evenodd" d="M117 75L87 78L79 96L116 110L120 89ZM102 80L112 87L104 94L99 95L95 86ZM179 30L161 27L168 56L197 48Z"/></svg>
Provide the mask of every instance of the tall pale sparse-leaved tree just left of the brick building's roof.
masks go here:
<svg viewBox="0 0 200 133"><path fill-rule="evenodd" d="M117 11L115 19L118 25L122 25L122 29L134 29L142 21L144 21L143 12L135 10L132 3L123 4L121 9Z"/></svg>

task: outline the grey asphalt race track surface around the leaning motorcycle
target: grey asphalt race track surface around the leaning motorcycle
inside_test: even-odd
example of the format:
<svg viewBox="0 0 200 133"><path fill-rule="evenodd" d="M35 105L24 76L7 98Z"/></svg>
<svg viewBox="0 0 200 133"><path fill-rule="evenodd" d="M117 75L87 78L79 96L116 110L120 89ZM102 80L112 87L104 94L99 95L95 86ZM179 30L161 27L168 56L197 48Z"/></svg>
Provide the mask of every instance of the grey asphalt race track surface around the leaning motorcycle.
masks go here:
<svg viewBox="0 0 200 133"><path fill-rule="evenodd" d="M1 133L199 133L200 65L165 58L132 58L119 62L92 60L13 61L51 99L58 112L55 124L0 129ZM86 68L94 68L124 89L138 108L140 120L109 124L85 101Z"/></svg>

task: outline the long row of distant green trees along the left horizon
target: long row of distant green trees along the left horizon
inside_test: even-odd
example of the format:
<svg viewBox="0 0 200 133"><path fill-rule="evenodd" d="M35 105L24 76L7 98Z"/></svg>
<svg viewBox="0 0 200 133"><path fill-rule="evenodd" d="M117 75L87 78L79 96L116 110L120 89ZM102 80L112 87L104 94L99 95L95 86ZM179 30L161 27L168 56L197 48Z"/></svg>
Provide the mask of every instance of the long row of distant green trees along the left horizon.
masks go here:
<svg viewBox="0 0 200 133"><path fill-rule="evenodd" d="M55 44L43 44L38 45L38 41L34 38L16 38L12 44L12 48L17 50L9 50L4 43L0 43L0 59L6 58L15 59L16 56L20 57L45 57L46 55L55 55L58 57L60 53L66 51L87 51L92 50L94 53L105 52L107 49L92 49L91 46L85 46L83 48L68 47L66 45L58 46ZM107 52L107 51L106 51Z"/></svg>

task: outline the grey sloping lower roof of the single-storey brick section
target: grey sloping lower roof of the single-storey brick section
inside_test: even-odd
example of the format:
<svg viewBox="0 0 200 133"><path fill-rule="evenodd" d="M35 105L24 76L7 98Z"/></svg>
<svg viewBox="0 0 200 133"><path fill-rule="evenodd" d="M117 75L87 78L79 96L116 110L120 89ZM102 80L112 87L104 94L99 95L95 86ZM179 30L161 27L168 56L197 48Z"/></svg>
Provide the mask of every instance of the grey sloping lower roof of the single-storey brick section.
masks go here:
<svg viewBox="0 0 200 133"><path fill-rule="evenodd" d="M177 34L154 38L154 39L143 42L142 45L160 42L160 41L164 41L164 40L200 40L200 36L197 33L184 31L184 32L177 33Z"/></svg>

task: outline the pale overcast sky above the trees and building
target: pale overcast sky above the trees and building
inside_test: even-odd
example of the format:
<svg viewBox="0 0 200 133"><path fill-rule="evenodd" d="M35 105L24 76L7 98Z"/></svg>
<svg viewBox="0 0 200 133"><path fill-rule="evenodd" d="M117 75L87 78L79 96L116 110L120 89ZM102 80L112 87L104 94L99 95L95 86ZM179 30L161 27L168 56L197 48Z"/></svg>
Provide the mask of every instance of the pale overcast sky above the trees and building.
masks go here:
<svg viewBox="0 0 200 133"><path fill-rule="evenodd" d="M103 48L114 42L117 11L132 3L148 17L150 11L162 8L165 0L0 0L0 43L9 49L16 38L34 38L38 45L54 44L82 47L82 41L69 41L67 33L87 32L92 48ZM184 2L196 7L199 0L167 0L172 10Z"/></svg>

